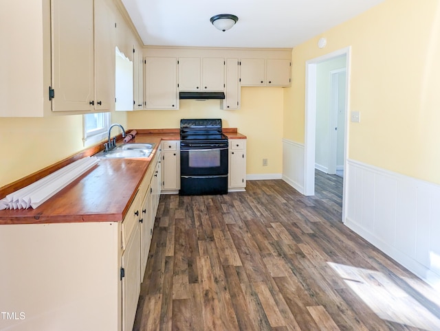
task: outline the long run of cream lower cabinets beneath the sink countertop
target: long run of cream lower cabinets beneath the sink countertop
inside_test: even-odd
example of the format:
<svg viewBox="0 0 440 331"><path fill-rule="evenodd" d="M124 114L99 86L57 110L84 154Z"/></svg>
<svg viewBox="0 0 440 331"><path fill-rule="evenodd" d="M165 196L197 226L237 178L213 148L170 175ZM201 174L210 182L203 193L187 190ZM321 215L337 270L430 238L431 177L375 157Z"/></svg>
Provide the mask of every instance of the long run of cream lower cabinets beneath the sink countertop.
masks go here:
<svg viewBox="0 0 440 331"><path fill-rule="evenodd" d="M1 225L0 328L132 330L160 184L158 149L122 222Z"/></svg>

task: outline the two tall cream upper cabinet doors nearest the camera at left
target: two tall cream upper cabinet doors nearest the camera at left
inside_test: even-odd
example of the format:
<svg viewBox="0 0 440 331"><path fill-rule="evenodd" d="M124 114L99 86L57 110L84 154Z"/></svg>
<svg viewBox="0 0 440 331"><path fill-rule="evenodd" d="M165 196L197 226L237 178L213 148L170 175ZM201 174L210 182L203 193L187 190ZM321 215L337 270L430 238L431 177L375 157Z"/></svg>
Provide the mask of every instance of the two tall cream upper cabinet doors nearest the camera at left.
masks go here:
<svg viewBox="0 0 440 331"><path fill-rule="evenodd" d="M52 111L111 110L115 77L111 10L105 0L51 3Z"/></svg>

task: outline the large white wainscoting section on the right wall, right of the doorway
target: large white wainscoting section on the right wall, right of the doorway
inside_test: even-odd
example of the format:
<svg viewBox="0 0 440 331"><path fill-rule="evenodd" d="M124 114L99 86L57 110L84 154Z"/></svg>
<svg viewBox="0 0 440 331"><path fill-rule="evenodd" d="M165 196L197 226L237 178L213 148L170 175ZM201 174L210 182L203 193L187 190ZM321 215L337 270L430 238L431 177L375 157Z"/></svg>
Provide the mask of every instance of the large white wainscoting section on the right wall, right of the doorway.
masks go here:
<svg viewBox="0 0 440 331"><path fill-rule="evenodd" d="M440 185L348 160L345 225L440 290Z"/></svg>

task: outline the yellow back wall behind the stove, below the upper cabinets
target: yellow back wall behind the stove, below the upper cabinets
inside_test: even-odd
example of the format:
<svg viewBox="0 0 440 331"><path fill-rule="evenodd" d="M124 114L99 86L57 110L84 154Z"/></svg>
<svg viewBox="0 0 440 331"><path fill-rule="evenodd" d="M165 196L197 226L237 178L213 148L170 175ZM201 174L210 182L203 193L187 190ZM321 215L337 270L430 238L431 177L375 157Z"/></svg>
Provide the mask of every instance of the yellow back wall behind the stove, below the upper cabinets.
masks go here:
<svg viewBox="0 0 440 331"><path fill-rule="evenodd" d="M221 118L223 126L238 128L248 137L247 173L281 174L283 88L242 87L241 109L223 111L219 100L180 100L178 111L129 113L130 128L179 128L181 118ZM263 167L263 159L268 159Z"/></svg>

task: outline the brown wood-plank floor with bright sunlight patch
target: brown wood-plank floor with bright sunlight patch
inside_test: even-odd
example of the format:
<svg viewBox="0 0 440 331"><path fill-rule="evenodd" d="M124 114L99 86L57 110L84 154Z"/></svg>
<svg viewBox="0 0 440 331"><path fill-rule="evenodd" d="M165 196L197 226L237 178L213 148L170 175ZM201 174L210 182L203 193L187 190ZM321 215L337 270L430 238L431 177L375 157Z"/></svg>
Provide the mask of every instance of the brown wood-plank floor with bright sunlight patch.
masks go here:
<svg viewBox="0 0 440 331"><path fill-rule="evenodd" d="M440 295L341 222L342 178L162 195L133 330L440 330Z"/></svg>

